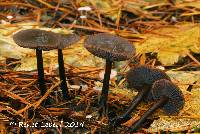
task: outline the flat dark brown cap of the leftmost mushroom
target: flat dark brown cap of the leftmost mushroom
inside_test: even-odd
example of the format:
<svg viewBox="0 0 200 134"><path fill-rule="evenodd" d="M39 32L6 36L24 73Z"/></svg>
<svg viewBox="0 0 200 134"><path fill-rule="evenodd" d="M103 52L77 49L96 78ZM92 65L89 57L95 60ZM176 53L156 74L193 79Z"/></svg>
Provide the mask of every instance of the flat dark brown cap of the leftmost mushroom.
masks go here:
<svg viewBox="0 0 200 134"><path fill-rule="evenodd" d="M15 43L24 48L51 50L58 48L59 36L53 32L27 29L13 35Z"/></svg>

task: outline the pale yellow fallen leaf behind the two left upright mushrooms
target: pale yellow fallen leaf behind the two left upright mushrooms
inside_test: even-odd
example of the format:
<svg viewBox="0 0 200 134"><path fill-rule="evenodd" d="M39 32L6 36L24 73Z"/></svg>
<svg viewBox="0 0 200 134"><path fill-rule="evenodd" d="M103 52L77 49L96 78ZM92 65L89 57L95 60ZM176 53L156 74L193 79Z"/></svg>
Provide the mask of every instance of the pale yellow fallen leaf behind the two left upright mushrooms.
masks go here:
<svg viewBox="0 0 200 134"><path fill-rule="evenodd" d="M0 24L0 56L2 58L21 59L21 64L15 68L16 71L32 71L37 69L35 50L20 47L15 44L12 39L12 35L17 31L29 28L38 28L62 34L73 32L72 30L63 28L38 27L37 23L17 23L13 27L5 27L5 25ZM49 67L51 62L51 67L57 68L57 56L57 50L43 51L44 67ZM105 63L103 59L95 57L89 53L82 46L82 43L77 43L69 48L63 49L63 57L65 64L69 64L74 67L103 67Z"/></svg>

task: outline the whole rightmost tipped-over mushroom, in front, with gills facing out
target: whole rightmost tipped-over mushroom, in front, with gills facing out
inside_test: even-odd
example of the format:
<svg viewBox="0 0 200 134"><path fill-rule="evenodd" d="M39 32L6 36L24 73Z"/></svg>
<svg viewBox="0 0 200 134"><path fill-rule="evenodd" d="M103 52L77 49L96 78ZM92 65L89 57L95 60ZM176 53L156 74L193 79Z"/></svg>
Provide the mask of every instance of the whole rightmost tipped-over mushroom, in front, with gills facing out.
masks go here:
<svg viewBox="0 0 200 134"><path fill-rule="evenodd" d="M131 131L139 129L146 118L158 108L161 108L167 115L175 115L178 114L184 106L185 101L181 90L169 80L161 79L154 82L151 93L153 100L157 102L133 124Z"/></svg>

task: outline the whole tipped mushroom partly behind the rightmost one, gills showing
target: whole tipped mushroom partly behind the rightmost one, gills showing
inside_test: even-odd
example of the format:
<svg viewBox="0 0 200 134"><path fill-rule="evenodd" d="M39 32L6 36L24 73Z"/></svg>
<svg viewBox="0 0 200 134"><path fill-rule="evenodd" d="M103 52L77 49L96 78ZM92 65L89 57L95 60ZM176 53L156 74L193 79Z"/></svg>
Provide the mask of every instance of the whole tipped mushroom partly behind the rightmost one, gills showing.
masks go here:
<svg viewBox="0 0 200 134"><path fill-rule="evenodd" d="M152 68L147 65L137 65L131 68L127 74L126 79L128 83L128 88L136 90L138 92L137 96L132 100L131 105L128 110L120 117L111 120L110 124L112 126L120 125L129 119L131 112L138 106L141 101L151 101L152 94L150 92L152 84L159 79L170 78L162 70L157 68Z"/></svg>

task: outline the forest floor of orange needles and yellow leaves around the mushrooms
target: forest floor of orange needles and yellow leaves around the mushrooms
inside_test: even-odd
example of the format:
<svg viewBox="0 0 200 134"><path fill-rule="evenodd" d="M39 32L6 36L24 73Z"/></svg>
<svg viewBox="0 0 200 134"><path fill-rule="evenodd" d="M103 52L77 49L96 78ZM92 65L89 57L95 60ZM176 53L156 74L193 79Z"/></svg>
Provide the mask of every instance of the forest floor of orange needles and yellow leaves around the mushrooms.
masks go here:
<svg viewBox="0 0 200 134"><path fill-rule="evenodd" d="M80 11L80 7L90 8ZM200 133L199 0L1 0L0 21L2 134L127 133L152 106L142 103L126 123L115 129L109 125L109 119L124 113L137 95L127 88L125 75L138 64L164 70L185 99L178 115L158 110L138 132ZM48 90L40 96L35 51L19 47L12 38L30 28L80 35L80 41L63 50L73 99L62 99L56 50L43 52ZM100 32L126 38L136 48L133 58L112 67L108 118L98 113L105 60L83 47L87 35ZM46 98L51 98L51 105L43 105Z"/></svg>

